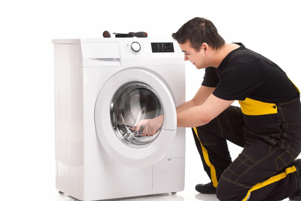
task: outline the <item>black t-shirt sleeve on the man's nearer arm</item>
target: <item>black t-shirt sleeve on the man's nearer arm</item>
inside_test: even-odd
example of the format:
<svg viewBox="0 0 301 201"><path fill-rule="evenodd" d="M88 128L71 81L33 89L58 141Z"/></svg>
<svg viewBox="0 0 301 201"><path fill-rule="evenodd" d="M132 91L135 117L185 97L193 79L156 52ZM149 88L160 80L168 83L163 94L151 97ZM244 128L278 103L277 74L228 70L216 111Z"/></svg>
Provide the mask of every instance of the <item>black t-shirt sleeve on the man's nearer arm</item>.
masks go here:
<svg viewBox="0 0 301 201"><path fill-rule="evenodd" d="M221 74L213 95L224 100L245 100L265 82L262 74L246 63L236 63Z"/></svg>

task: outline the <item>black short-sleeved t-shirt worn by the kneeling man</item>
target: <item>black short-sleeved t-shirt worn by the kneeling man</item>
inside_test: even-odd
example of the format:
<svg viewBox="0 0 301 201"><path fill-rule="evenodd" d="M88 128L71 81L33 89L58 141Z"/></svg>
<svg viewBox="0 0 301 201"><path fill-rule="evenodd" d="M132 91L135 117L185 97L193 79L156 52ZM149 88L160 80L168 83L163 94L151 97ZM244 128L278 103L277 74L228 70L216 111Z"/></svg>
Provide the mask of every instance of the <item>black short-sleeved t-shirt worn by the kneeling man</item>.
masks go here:
<svg viewBox="0 0 301 201"><path fill-rule="evenodd" d="M203 86L216 87L213 95L224 100L250 98L267 103L281 103L296 99L299 93L287 75L256 55L240 54L230 62L232 53L247 49L242 43L231 51L218 68L205 69Z"/></svg>

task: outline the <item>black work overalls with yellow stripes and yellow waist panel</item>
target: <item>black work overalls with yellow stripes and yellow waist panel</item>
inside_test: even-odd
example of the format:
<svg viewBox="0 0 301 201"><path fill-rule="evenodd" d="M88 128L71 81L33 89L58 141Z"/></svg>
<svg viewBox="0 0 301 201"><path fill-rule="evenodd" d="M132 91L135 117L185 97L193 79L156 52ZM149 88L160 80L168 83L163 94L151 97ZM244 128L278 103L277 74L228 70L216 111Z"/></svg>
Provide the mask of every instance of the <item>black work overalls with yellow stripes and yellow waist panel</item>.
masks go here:
<svg viewBox="0 0 301 201"><path fill-rule="evenodd" d="M275 104L248 98L239 103L192 128L204 170L221 201L283 200L299 188L292 162L301 152L300 96ZM244 148L233 162L226 140Z"/></svg>

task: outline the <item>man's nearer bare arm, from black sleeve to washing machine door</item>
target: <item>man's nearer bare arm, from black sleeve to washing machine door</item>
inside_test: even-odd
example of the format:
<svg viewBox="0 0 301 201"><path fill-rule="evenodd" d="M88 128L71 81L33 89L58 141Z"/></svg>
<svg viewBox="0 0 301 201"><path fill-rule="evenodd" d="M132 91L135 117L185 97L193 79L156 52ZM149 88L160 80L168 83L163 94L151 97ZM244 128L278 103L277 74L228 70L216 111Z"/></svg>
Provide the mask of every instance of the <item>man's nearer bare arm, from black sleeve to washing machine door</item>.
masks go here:
<svg viewBox="0 0 301 201"><path fill-rule="evenodd" d="M208 124L234 101L223 100L211 94L202 105L178 112L177 127L197 127Z"/></svg>

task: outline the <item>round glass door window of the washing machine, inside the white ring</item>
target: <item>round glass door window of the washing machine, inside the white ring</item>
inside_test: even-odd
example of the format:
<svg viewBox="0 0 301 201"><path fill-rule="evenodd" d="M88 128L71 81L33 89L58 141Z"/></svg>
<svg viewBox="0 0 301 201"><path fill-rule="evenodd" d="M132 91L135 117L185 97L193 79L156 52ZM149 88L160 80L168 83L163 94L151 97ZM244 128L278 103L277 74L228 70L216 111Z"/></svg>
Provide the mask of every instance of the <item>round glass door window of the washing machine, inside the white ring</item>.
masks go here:
<svg viewBox="0 0 301 201"><path fill-rule="evenodd" d="M130 81L120 86L110 104L111 125L116 136L126 145L143 148L150 145L160 134L162 126L154 136L143 133L146 125L136 131L139 121L163 115L163 106L151 86Z"/></svg>

